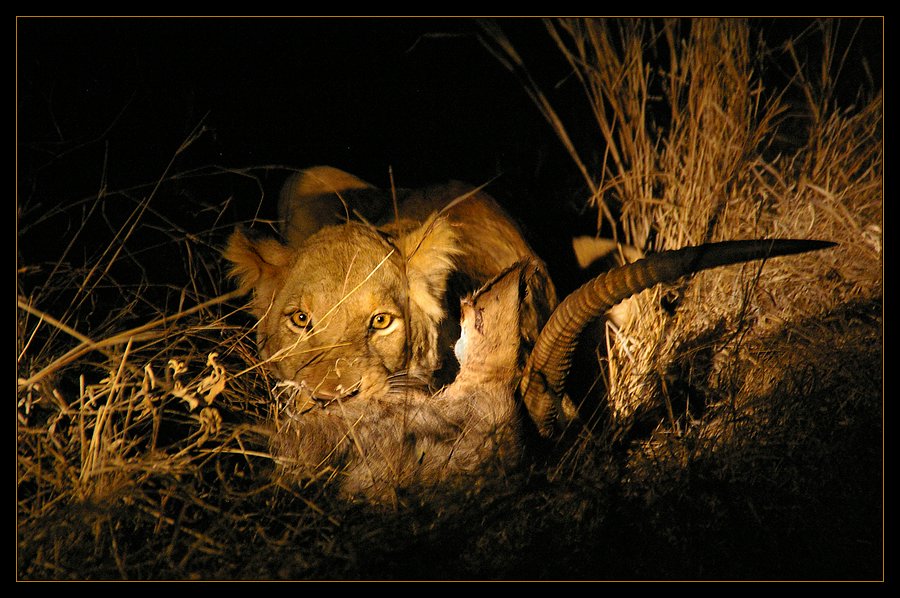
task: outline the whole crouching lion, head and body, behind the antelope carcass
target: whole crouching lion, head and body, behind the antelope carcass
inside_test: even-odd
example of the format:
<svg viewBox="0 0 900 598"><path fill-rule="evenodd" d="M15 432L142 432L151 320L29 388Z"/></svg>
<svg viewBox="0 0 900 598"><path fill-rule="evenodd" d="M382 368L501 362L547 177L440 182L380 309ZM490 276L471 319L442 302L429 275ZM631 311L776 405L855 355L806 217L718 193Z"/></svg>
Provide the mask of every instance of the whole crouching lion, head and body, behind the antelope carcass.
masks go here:
<svg viewBox="0 0 900 598"><path fill-rule="evenodd" d="M380 396L399 373L434 388L451 382L460 299L515 263L534 264L520 317L526 347L556 306L543 261L483 191L451 182L400 190L396 211L392 203L315 167L284 186L284 243L241 231L229 240L232 274L253 292L261 357L313 399Z"/></svg>

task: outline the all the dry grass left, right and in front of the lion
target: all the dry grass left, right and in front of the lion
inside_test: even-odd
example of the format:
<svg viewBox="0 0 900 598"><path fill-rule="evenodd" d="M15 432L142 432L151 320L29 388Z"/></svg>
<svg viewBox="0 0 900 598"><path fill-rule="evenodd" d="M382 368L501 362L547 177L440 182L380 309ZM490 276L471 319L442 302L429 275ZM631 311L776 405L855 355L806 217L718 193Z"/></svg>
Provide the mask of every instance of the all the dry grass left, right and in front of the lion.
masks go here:
<svg viewBox="0 0 900 598"><path fill-rule="evenodd" d="M486 44L577 160L598 230L645 250L840 247L641 294L601 342L590 430L532 447L513 486L385 512L269 475L273 382L223 273L235 222L215 195L267 169L179 172L198 131L151 184L53 210L20 196L20 579L884 575L880 93L832 95L833 22L778 48L742 21L547 29L595 148L575 147L499 30ZM819 46L827 68L797 50ZM785 87L763 76L776 60ZM210 189L187 217L155 207ZM60 219L65 252L31 259Z"/></svg>

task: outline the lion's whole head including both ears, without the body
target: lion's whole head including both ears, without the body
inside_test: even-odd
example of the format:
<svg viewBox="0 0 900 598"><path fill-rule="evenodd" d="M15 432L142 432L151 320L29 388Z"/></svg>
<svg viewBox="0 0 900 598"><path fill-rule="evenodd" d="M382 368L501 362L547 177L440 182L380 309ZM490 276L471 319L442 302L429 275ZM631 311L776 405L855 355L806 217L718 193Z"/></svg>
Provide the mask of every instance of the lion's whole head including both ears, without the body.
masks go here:
<svg viewBox="0 0 900 598"><path fill-rule="evenodd" d="M261 357L328 401L380 396L392 374L427 377L440 366L454 253L452 228L432 219L399 238L362 224L326 227L296 250L238 232L225 255L254 291Z"/></svg>

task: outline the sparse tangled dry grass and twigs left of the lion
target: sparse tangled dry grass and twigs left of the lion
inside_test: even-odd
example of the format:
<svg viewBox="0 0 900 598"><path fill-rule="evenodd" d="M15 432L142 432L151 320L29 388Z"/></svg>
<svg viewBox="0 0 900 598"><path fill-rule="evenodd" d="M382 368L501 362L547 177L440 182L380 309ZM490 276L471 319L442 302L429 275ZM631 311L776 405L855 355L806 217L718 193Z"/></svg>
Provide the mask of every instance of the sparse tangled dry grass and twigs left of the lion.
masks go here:
<svg viewBox="0 0 900 598"><path fill-rule="evenodd" d="M181 223L153 207L198 174L226 173L168 170L152 185L46 212L20 203L23 578L187 576L228 550L199 522L215 517L237 533L244 517L225 507L271 486L257 486L270 468L269 381L218 256L233 227L218 224L228 201L197 203ZM76 226L59 261L27 261L60 215Z"/></svg>

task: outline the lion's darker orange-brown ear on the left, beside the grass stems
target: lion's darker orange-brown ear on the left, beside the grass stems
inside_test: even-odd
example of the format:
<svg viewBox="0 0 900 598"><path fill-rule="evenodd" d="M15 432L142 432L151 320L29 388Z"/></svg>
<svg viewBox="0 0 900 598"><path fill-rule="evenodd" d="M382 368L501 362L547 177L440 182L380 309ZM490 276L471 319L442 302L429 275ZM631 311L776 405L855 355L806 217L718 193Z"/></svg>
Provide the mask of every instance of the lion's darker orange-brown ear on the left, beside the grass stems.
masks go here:
<svg viewBox="0 0 900 598"><path fill-rule="evenodd" d="M223 256L231 262L230 275L244 291L253 291L253 312L262 317L291 263L291 250L275 239L251 241L240 230L232 233Z"/></svg>

